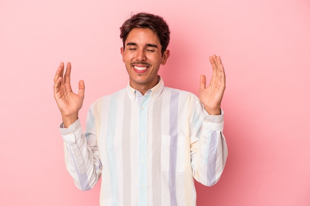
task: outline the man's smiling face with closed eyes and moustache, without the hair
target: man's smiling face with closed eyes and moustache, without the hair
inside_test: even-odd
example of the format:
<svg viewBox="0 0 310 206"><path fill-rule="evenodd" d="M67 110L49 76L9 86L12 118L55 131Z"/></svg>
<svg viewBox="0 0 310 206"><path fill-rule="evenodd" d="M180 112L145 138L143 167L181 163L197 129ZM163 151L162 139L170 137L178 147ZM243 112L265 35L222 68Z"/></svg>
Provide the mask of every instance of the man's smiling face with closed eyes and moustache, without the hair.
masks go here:
<svg viewBox="0 0 310 206"><path fill-rule="evenodd" d="M161 54L158 36L151 29L134 28L121 48L131 87L142 94L154 87L160 65L164 65L169 57L169 50Z"/></svg>

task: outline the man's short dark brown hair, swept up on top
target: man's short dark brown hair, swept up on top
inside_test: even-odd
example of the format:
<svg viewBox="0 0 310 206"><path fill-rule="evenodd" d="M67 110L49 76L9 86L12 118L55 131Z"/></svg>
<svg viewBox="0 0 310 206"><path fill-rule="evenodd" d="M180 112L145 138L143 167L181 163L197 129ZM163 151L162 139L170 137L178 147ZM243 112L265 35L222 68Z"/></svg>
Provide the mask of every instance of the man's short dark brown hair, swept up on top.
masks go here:
<svg viewBox="0 0 310 206"><path fill-rule="evenodd" d="M167 49L170 41L170 30L162 17L150 13L137 13L127 19L119 28L120 39L123 40L124 48L127 36L133 28L149 28L153 30L158 36L161 45L161 54Z"/></svg>

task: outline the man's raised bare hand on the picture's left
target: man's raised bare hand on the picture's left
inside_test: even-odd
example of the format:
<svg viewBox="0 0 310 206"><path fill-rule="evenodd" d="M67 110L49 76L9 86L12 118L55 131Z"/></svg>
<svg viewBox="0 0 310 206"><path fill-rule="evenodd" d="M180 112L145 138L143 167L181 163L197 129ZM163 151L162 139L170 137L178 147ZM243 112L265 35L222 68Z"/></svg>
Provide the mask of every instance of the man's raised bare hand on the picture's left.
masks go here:
<svg viewBox="0 0 310 206"><path fill-rule="evenodd" d="M67 128L78 119L79 110L82 108L84 99L85 85L84 81L79 82L79 92L75 94L70 84L71 63L67 63L64 73L64 64L60 65L54 78L54 98L62 115L62 121Z"/></svg>

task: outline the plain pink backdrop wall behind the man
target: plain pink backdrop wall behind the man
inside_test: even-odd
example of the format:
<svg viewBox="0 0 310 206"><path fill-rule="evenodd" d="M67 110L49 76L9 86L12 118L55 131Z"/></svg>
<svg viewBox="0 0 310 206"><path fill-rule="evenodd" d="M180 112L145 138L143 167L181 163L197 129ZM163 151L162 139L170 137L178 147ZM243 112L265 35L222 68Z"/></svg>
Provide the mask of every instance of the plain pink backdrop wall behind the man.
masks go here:
<svg viewBox="0 0 310 206"><path fill-rule="evenodd" d="M70 61L73 90L85 81L85 124L127 84L119 27L139 11L170 25L167 86L198 94L213 53L226 69L229 156L198 206L309 206L309 0L0 0L0 205L99 205L99 185L79 191L65 169L53 77Z"/></svg>

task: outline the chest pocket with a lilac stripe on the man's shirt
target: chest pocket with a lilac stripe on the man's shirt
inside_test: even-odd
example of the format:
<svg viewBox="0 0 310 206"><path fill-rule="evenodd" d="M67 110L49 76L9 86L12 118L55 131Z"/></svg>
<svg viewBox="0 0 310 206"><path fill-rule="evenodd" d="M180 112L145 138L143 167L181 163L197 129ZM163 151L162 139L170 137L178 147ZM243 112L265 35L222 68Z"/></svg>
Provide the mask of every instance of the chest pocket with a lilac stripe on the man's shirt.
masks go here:
<svg viewBox="0 0 310 206"><path fill-rule="evenodd" d="M185 171L189 156L185 136L161 136L160 169L162 171Z"/></svg>

